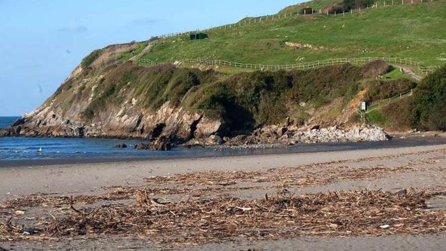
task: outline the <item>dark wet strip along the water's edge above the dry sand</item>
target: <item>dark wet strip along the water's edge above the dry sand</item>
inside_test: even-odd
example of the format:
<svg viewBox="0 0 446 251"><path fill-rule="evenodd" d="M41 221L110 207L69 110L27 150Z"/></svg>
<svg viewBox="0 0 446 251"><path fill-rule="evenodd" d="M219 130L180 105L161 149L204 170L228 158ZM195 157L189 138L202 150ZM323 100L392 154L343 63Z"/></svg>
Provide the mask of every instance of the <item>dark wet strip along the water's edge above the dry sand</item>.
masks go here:
<svg viewBox="0 0 446 251"><path fill-rule="evenodd" d="M395 134L394 134L395 135ZM427 136L426 136L427 135ZM407 136L407 138L405 137ZM401 138L403 137L403 138ZM91 154L89 156L80 156L80 158L58 158L58 159L24 159L24 160L0 160L0 168L4 167L32 167L46 165L63 164L97 164L97 163L125 163L129 161L151 161L151 160L188 160L195 158L214 158L214 157L242 157L242 156L264 156L275 154L300 154L317 152L339 152L348 150L374 150L389 148L404 148L412 146L435 146L446 144L444 133L440 137L433 136L433 132L426 132L423 135L395 135L393 139L386 141L360 141L360 142L323 142L313 144L296 144L294 146L271 146L258 148L219 148L217 146L193 147L192 151L174 153L164 152L165 156L131 156L115 157L100 156ZM182 149L183 146L175 147ZM195 150L195 151L194 151ZM139 150L146 151L146 150ZM139 152L139 154L142 152ZM169 153L172 155L169 156ZM174 156L176 154L176 156ZM99 158L98 158L99 157Z"/></svg>

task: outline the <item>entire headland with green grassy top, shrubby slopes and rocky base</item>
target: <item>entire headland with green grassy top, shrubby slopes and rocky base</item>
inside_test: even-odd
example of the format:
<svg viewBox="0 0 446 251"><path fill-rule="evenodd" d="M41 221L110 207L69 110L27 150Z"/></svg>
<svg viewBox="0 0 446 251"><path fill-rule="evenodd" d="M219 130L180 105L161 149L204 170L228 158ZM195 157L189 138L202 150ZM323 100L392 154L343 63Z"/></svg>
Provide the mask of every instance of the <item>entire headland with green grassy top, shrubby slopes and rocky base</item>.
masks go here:
<svg viewBox="0 0 446 251"><path fill-rule="evenodd" d="M337 12L340 5L350 13L296 14L301 8ZM380 128L359 127L363 123L397 131L445 129L442 119L429 122L442 113L444 68L420 84L423 76L409 69L420 69L412 59L404 67L404 61L371 60L412 57L440 65L445 6L432 2L356 13L356 6L314 1L287 7L271 21L247 18L238 26L203 31L208 35L203 40L183 34L111 45L85 57L41 107L0 134L133 137L158 140L165 149L167 141L289 145L387 137ZM370 58L253 70L181 63L188 57L259 64ZM377 108L360 113L361 101ZM306 134L309 129L314 130Z"/></svg>

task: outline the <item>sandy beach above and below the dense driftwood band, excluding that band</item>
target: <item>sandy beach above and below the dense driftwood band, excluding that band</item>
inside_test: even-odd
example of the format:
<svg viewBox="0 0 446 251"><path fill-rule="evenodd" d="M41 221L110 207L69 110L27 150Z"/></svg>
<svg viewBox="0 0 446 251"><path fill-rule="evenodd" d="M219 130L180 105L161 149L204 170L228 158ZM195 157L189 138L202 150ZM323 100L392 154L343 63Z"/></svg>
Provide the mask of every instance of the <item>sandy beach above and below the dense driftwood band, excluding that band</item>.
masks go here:
<svg viewBox="0 0 446 251"><path fill-rule="evenodd" d="M390 193L396 193L404 188L442 191L445 188L443 180L446 171L444 169L446 164L445 151L446 144L440 144L312 153L4 167L0 168L0 176L8 178L0 184L0 191L4 191L3 194L0 194L0 212L5 217L12 215L15 219L23 218L22 223L25 225L33 224L32 220L26 219L34 219L32 218L34 215L38 217L36 219L44 217L49 218L47 221L51 221L49 214L51 213L56 219L63 219L75 212L70 212L66 200L61 204L58 204L60 202L52 204L51 201L52 199L63 200L69 198L69 196L75 196L75 207L81 210L89 211L88 208L98 208L99 210L99 208L106 209L110 206L133 208L136 203L133 188L149 189L150 191L155 189L153 190L155 192L150 194L151 197L179 204L189 200L198 203L202 200L224 200L224 198L238 198L246 201L261 200L265 193L274 196L274 194L282 191L284 189L282 182L286 183L290 177L289 175L293 172L297 172L294 175L299 177L320 173L320 176L315 177L315 180L313 178L307 180L308 184L287 187L286 191L294 196L314 196L317 193L330 194L331 191L349 193L343 191L354 190L370 191L370 193L381 191L381 193L389 193L387 195L389 196ZM346 173L346 171L348 172ZM354 173L357 174L352 175ZM267 178L267 176L264 176L267 174L274 174L270 182L268 180L258 181L258 179ZM252 175L252 177L245 181L245 175ZM175 180L175 177L179 180ZM171 180L171 178L174 178L174 180ZM276 178L279 179L277 180L279 186L274 185L273 181ZM334 178L334 180L328 183L319 183L320 178L328 178L329 180ZM212 180L227 184L215 184L212 183ZM235 184L232 185L231 182L235 182ZM161 190L157 190L158 188ZM181 192L182 188L192 190L186 190L184 193ZM172 190L172 192L163 192L168 190ZM115 198L112 194L119 196ZM430 199L427 202L429 207L435 210L446 210L446 201L440 197ZM91 202L82 201L88 198L94 200ZM27 204L26 201L28 200L34 202ZM8 209L9 207L1 209L2 203L8 205L11 202L19 203L19 205L11 209ZM238 206L243 206L243 204ZM24 215L16 215L17 211L15 210L23 211ZM154 210L152 213L159 209ZM416 211L420 212L419 210ZM168 217L168 214L164 217ZM174 221L176 222L176 220ZM386 219L382 221L385 223ZM379 221L379 223L382 224L382 221ZM315 222L315 224L317 223ZM272 250L280 246L283 250L294 250L294 244L302 243L301 241L304 240L309 241L309 243L307 246L303 246L303 249L310 250L323 243L317 234L307 233L298 237L290 232L289 238L286 235L272 239L262 236L253 237L253 239L227 236L218 241L210 238L209 240L201 240L203 242L199 242L197 245L183 246L181 244L183 242L182 238L193 238L193 235L199 234L200 231L184 232L184 230L181 230L181 233L185 233L184 235L170 235L169 232L163 233L163 229L164 227L157 230L161 231L160 235L151 233L138 238L135 238L134 235L125 234L60 237L57 241L33 239L39 238L33 236L30 239L20 239L19 237L14 241L3 242L1 246L4 248L22 248L21 250L38 250L39 248L48 249L49 247L63 249L68 245L71 250L85 250L86 246L108 243L110 239L113 239L112 242L104 244L104 246L113 248L116 246L148 245L141 250L179 250L180 247L182 250L187 247L190 248L187 250L207 250L209 248L236 250L241 248L266 248L265 250ZM417 227L416 231L419 230ZM287 230L286 228L279 228L271 231L281 233ZM366 235L368 237L363 237L361 234L353 236L334 234L333 236L326 233L322 233L320 236L322 239L333 240L341 244L347 241L352 246L377 246L377 243L384 241L384 243L387 243L386 248L392 247L395 250L412 248L413 246L410 243L414 240L418 242L419 247L423 246L427 249L431 248L431 250L444 244L444 232L440 230L422 232L427 234L424 237L411 237L412 235L399 234L398 231L395 234L392 233L393 229L385 232L384 234L387 236L384 237L381 236L383 233L375 233L377 230L373 226L369 231L373 232ZM217 233L220 233L220 231ZM432 235L429 233L432 233ZM189 234L192 237L188 237ZM165 243L157 241L157 238L165 238L166 236L171 241ZM429 245L425 245L425 242ZM325 249L336 250L336 246L325 247Z"/></svg>

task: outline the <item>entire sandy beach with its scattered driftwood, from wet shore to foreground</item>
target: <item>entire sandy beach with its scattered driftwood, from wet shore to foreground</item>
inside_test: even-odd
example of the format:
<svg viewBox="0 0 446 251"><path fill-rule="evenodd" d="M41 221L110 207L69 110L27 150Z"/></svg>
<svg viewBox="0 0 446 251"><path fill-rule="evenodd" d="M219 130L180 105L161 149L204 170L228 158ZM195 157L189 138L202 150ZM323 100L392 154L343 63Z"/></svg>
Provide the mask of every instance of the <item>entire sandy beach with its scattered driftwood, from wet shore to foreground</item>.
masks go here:
<svg viewBox="0 0 446 251"><path fill-rule="evenodd" d="M340 244L347 241L352 244L357 243L358 246L367 243L376 246L385 238L388 240L386 247L389 247L388 245L400 247L395 250L406 249L401 248L401 243L412 238L404 233L440 234L416 238L421 243L432 244L429 246L435 249L444 244L444 229L441 228L441 219L444 218L441 217L446 210L446 200L442 196L446 195L445 164L446 144L440 144L294 154L5 167L0 168L0 175L8 177L0 183L0 191L3 191L0 193L0 214L3 218L12 216L13 226L31 228L42 226L42 222L47 224L58 222L63 224L61 230L68 235L54 235L51 233L51 228L44 230L45 235L31 236L23 236L20 230L7 231L6 237L9 237L2 243L2 247L39 250L39 248L49 249L50 246L59 249L69 246L71 250L85 250L86 246L92 246L97 242L108 243L113 239L105 246L113 249L116 246L145 244L149 245L150 249L143 250L154 251L179 250L179 248L274 250L277 249L275 246L284 247L284 250L294 250L293 243L300 243L300 240L314 239L316 244L323 243L317 237L316 232L318 232L321 233L321 240L340 239ZM408 193L414 194L415 197L397 197L402 189L407 189ZM155 201L166 202L165 206L171 211L160 212L156 205L138 206L139 191ZM435 191L438 191L437 197L428 195ZM306 205L286 210L287 207L274 204L280 203L282 197L279 197L279 194L284 192L286 193L283 198L288 198L286 196L294 198L294 202L290 205L299 203ZM345 202L333 197L337 193L350 203L363 199L369 202L360 207L353 206L346 209ZM72 200L69 200L70 196L73 196ZM325 204L311 202L319 196L327 199ZM389 196L393 199L389 200ZM312 199L305 199L308 197ZM375 205L371 203L374 198L385 201ZM426 199L426 203L423 204L425 207L417 207L417 210L398 207L397 203L404 202L404 198L417 203L419 198ZM77 219L75 222L79 222L79 213L70 210L70 201L74 202L74 208L85 212L86 219L97 220L94 222L99 224L97 228L99 232L87 232L82 236L76 234L79 226L76 224L73 226L71 220L63 220ZM195 203L188 203L190 201ZM269 204L268 201L272 201L273 204ZM222 207L221 204L236 208L238 211L229 213L225 209L228 206ZM337 225L336 228L333 228L334 225L327 226L327 223L332 222L331 217L326 215L326 219L321 222L320 217L324 216L316 211L308 211L305 209L307 206L320 207L318 210L329 209L329 215L344 219L343 222L346 224ZM383 206L386 209L383 209ZM264 207L271 213L262 213ZM120 214L131 212L129 215L125 213L126 217L131 216L127 218L129 224L118 223L120 228L114 229L118 232L108 232L107 228L112 226L108 225L109 220L96 218L108 215L103 213L107 213L110 208L118 210ZM395 208L399 209L395 211ZM340 209L343 212L339 212ZM363 224L350 225L347 223L354 220L348 213L346 214L346 210L349 213L354 211L353 215L365 213L370 218ZM374 213L375 210L380 210L380 213ZM150 213L144 213L146 211ZM194 216L188 216L191 212L194 212ZM257 217L266 219L250 220L250 217L244 216L245 213L254 214L253 219ZM388 216L387 213L391 215ZM289 218L283 218L284 214ZM428 221L430 227L420 226L417 221L410 220L413 217L423 220L429 216L433 217ZM191 220L191 217L194 219ZM393 221L395 217L406 219L404 228L397 227ZM144 226L146 218L150 220L146 230L148 232L139 235L140 220ZM197 225L194 222L196 219L200 222L205 221L206 224ZM218 228L211 227L206 232L200 231L201 226L215 224L213 221L215 219L221 219ZM290 223L286 219L298 220ZM236 220L246 222L248 225L230 224ZM368 222L370 220L373 222ZM308 221L309 224L305 225L307 227L302 227L302 221ZM264 222L274 225L268 231L276 237L268 237L258 232L258 229L263 228ZM381 229L380 226L384 226L384 223L389 224L389 227ZM249 233L252 233L252 238L240 237L239 233L246 232L246 226ZM227 231L228 235L220 238L219 228ZM311 231L312 228L316 232ZM338 228L339 231L336 231ZM349 231L356 231L358 234L342 234ZM73 236L69 234L71 232ZM136 233L138 233L137 238ZM388 237L380 237L383 234ZM47 237L55 239L46 239ZM130 240L129 237L133 239ZM159 241L164 242L159 244ZM188 241L191 245L184 246L182 244L184 241ZM39 244L35 245L36 243ZM314 248L307 246L303 249ZM329 247L326 249L336 250Z"/></svg>

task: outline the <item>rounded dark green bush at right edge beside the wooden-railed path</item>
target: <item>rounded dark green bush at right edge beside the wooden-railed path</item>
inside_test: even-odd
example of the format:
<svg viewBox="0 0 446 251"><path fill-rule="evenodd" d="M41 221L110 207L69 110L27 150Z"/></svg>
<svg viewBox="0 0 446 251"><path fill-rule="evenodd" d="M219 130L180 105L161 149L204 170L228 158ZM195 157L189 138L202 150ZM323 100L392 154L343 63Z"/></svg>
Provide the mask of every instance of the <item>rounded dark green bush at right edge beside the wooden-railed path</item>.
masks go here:
<svg viewBox="0 0 446 251"><path fill-rule="evenodd" d="M415 126L421 130L446 130L446 65L421 82L415 103Z"/></svg>

